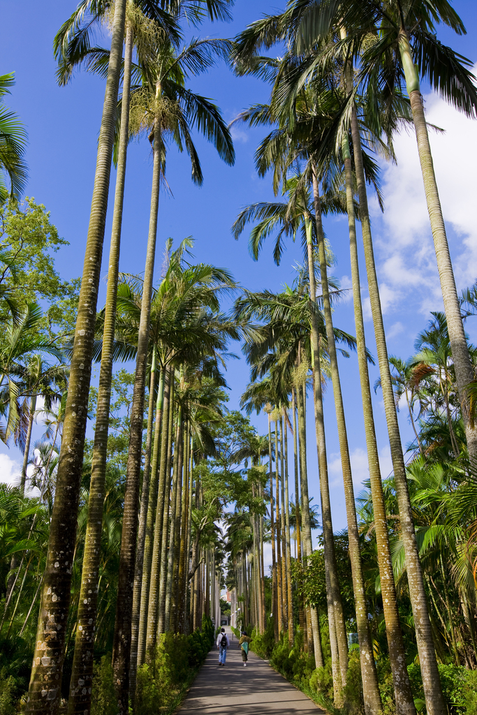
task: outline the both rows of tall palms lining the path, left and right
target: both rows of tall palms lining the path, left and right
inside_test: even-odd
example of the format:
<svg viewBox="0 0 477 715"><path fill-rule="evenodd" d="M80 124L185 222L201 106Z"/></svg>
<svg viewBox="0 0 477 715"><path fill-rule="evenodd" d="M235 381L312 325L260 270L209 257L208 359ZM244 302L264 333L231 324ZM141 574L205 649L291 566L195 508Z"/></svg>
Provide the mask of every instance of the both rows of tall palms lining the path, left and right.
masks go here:
<svg viewBox="0 0 477 715"><path fill-rule="evenodd" d="M445 0L440 0L432 9L417 0L406 4L400 0L385 4L353 0L309 3L290 0L282 14L252 24L234 43L192 39L181 48L185 17L200 24L206 16L212 20L227 19L229 14L227 0L177 0L170 3L83 0L55 38L60 84L67 83L74 69L82 65L106 79L106 90L26 711L56 712L62 695L60 683L68 637L64 623L69 619L71 622L72 618L72 578L78 544L93 360L100 355L81 587L77 616L72 621L74 659L68 708L71 713L89 712L91 708L92 644L99 613L112 366L114 360L126 358L135 360L135 372L112 643L114 682L117 684L118 709L122 714L129 710L129 699L134 703L137 667L148 659L151 661L158 634L169 630L185 632L191 620L192 626L197 625L200 609L210 608L212 593L216 593L217 568L215 558L211 556L215 551L205 542L201 546L200 539L205 527L218 517L223 496L217 485L214 492L213 484L209 487L213 496L202 493L201 479L205 475L195 473L193 466L200 455L207 453L197 425L201 420L210 423L214 420L214 409L217 412L216 407L211 407L217 404L214 396L207 397L205 378L214 381L212 392L220 386L220 366L225 360L227 342L238 337L240 328L245 335L247 356L254 365L252 385L247 390L244 404L252 408L270 405L267 410L270 420L275 422L275 444L272 443L271 426L269 432L268 494L265 475L260 470L260 454L257 454L255 462L258 463L254 465L257 475L250 482L248 498L249 501L263 502L267 495L270 500L272 613L276 638L284 628L289 638L294 637L290 514L287 508L287 418L282 417L283 408L290 402L294 405L293 420L297 421L294 430L295 480L299 480L300 485L300 508L296 508L296 519L300 521L297 553L303 559L305 571L312 563L305 436L306 387L311 376L333 689L335 704L339 706L347 678L348 643L330 509L323 380L329 376L333 384L365 712L375 714L382 709L382 703L368 622L337 342L345 342L358 353L380 587L395 703L399 714L415 713L405 669L388 514L373 422L368 375L370 356L365 346L360 297L355 226L358 218L426 708L430 715L444 715L446 706L439 681L413 504L400 443L393 375L385 342L366 184L371 184L379 197L378 167L371 153L373 149L380 149L392 158L393 134L403 124L412 122L436 245L456 395L468 451L465 468L468 475L472 473L477 456L476 428L468 395L468 385L474 375L473 364L448 255L418 81L419 74L458 109L468 115L475 114L477 92L466 61L439 44L433 34L440 22L457 32L464 31L463 25ZM111 29L109 50L92 46L94 27L101 23L109 24ZM275 44L285 45L282 59L260 56L263 46L270 49ZM202 169L192 141L194 130L202 132L214 144L225 162L234 162L230 132L219 110L210 100L187 87L190 77L224 57L232 59L237 74L255 74L270 82L269 104L250 108L242 113L240 120L272 127L257 151L257 169L260 174L271 169L275 190L282 186L287 199L285 203L247 207L237 218L235 235L240 235L247 222L257 221L250 239L253 257L259 255L263 241L275 230L274 257L277 263L286 237L295 239L300 235L305 255L305 269L295 288L280 295L266 292L245 295L237 304L233 320L220 313L217 298L220 292L233 290L232 277L223 269L185 263L187 244L173 253L168 248L168 265L159 287L154 289L159 193L165 180L168 143L173 140L180 151L185 147L191 161L192 180L199 185ZM119 97L121 79L122 94ZM404 84L408 97L403 92ZM144 276L139 280L119 274L119 245L127 145L134 134L144 133L152 147L152 195ZM117 162L117 184L107 300L104 310L97 313L113 160ZM323 232L323 215L328 212L342 212L348 216L355 340L333 325L332 302L336 288L328 279L330 249ZM250 327L251 320L257 321L257 325ZM263 379L257 383L255 378ZM143 445L147 387L149 409ZM444 393L448 403L448 391L444 389ZM211 401L207 403L209 398ZM274 409L278 411L274 412ZM449 425L451 422L448 419ZM451 440L457 447L455 430ZM275 454L275 476L272 453ZM227 470L224 473L227 474ZM295 498L298 501L297 488ZM197 514L203 511L195 525L194 508ZM260 510L252 517L252 568L249 569L250 561L243 556L243 549L239 561L235 559L240 563L240 568L236 567L236 581L244 591L247 607L253 604L252 611L261 628L266 627L265 569L260 556L265 539L263 518L264 513ZM205 566L199 567L201 549ZM249 582L252 579L252 588L248 591L244 586L247 578ZM185 618L187 598L192 619ZM213 598L217 600L215 596ZM299 621L307 623L308 651L315 654L315 664L319 666L323 661L319 614L312 603L303 602L300 613L302 611Z"/></svg>

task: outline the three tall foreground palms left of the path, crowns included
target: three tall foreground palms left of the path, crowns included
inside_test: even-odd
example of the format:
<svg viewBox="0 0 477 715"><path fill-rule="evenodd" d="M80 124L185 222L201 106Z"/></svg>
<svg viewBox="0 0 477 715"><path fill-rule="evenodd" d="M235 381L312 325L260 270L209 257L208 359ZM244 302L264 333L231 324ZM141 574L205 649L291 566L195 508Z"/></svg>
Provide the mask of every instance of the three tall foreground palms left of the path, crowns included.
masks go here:
<svg viewBox="0 0 477 715"><path fill-rule="evenodd" d="M31 672L29 711L57 710L60 701L58 686L64 661L64 629L61 623L69 613L71 564L77 533L77 510L82 472L84 435L87 424L87 405L91 365L97 332L97 291L101 270L104 222L107 211L109 174L113 147L117 153L117 187L114 200L111 255L109 260L107 304L104 310L102 365L99 375L99 414L92 455L92 485L85 542L82 576L81 609L77 624L77 654L74 658L70 711L89 711L91 689L83 683L92 679L93 657L90 648L96 621L96 588L101 515L104 499L104 480L107 468L107 430L109 422L110 385L114 360L114 334L117 312L117 281L119 270L119 241L121 236L122 202L126 169L129 122L136 132L147 131L152 145L152 195L149 218L147 255L142 282L142 300L135 338L136 370L134 395L129 425L129 455L127 459L122 545L119 559L116 628L113 645L114 680L119 683L117 696L119 711L129 709L129 660L132 647L132 617L134 611L134 582L137 553L137 510L142 461L142 425L144 415L144 386L147 379L149 328L152 305L152 284L157 239L159 188L164 179L167 139L173 139L182 150L185 146L191 159L192 179L202 183L202 172L197 151L192 142L192 128L199 129L211 141L222 159L233 163L234 154L230 133L217 107L209 100L187 89L186 80L207 68L225 51L222 41L192 42L180 49L181 19L185 16L199 24L204 16L226 19L227 1L192 0L173 2L93 2L84 0L77 11L64 23L54 41L59 61L58 79L65 84L74 67L86 64L88 69L106 76L106 92L101 129L99 132L97 172L94 182L92 211L84 260L82 287L79 294L74 345L69 373L69 391L64 415L62 448L56 473L56 499L51 518L49 550L44 585L41 593L40 618L36 638L34 665ZM112 29L109 51L92 47L94 25L108 21ZM125 47L124 63L122 60ZM137 62L133 66L134 50ZM119 80L123 77L121 119L117 137L116 117ZM132 87L132 77L138 79ZM116 142L116 143L115 143ZM162 366L162 384L167 382ZM153 390L151 390L151 393ZM162 410L159 406L159 414ZM182 425L182 421L180 420ZM182 430L182 427L181 427ZM167 433L165 433L167 435ZM177 437L181 443L182 431ZM167 444L167 440L166 440ZM150 440L149 440L150 446ZM176 450L177 452L177 450ZM148 465L149 466L149 465ZM164 467L163 467L164 469ZM152 473L155 479L156 474ZM149 475L146 476L147 481ZM147 501L142 502L143 513ZM175 517L175 511L174 517ZM174 521L174 520L173 520ZM173 533L173 531L171 532ZM170 561L170 559L169 559ZM54 636L52 636L54 633Z"/></svg>

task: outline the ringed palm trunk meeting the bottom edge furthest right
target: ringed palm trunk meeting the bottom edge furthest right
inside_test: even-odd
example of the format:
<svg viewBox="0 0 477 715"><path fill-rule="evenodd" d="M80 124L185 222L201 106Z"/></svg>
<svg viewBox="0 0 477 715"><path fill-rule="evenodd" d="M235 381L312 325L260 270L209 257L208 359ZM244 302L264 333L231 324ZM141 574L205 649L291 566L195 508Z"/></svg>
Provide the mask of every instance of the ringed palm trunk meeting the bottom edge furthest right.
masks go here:
<svg viewBox="0 0 477 715"><path fill-rule="evenodd" d="M353 90L353 79L348 72L346 77L348 93ZM413 608L415 635L418 644L419 659L421 661L421 674L423 677L424 696L428 715L446 715L441 680L434 650L431 621L429 620L426 591L424 590L421 562L419 561L418 546L415 541L413 514L410 507L408 481L405 474L403 448L400 442L398 415L396 414L393 383L391 381L388 347L386 345L383 312L379 296L378 277L373 252L373 238L368 210L368 196L366 192L363 156L361 153L360 128L356 107L353 107L351 116L351 134L353 137L353 153L355 159L356 181L358 184L358 197L360 200L360 220L363 235L363 246L368 275L368 288L373 315L373 324L378 352L378 363L383 389L383 401L388 424L391 459L398 501L400 527L405 553L405 566L408 575L408 586L411 606Z"/></svg>

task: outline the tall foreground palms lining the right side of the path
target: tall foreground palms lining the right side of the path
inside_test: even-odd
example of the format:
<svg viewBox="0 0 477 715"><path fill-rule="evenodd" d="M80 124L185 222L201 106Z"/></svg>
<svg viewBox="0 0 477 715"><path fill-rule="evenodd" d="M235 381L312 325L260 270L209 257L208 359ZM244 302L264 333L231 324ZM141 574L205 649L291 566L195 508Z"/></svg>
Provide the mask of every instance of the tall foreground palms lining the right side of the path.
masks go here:
<svg viewBox="0 0 477 715"><path fill-rule="evenodd" d="M373 257L366 183L376 183L375 165L373 166L373 162L370 162L366 152L363 151L363 144L364 147L380 147L393 157L393 134L396 129L404 122L414 124L436 247L458 399L466 430L469 465L472 469L476 456L473 447L476 436L469 409L468 388L473 381L474 370L463 330L461 305L456 292L438 199L419 87L419 74L428 79L433 87L468 116L476 113L477 92L468 69L470 62L460 61L451 49L443 47L436 41L433 31L436 24L441 22L458 32L465 31L461 20L446 2L439 3L430 10L427 4L402 3L400 0L386 4L356 3L353 0L349 2L323 0L309 3L290 1L282 14L267 16L244 31L237 39L232 52L237 74L255 74L272 84L269 104L251 107L247 112L242 113L240 119L250 125L272 125L272 131L257 150L257 171L259 174L265 174L271 169L275 191L280 189L281 184L288 199L287 204L255 204L244 209L235 222L236 237L240 235L247 221L257 221L250 235L252 256L257 258L262 242L275 232L274 258L275 262L279 263L282 241L286 236L295 239L299 233L302 237L305 260L308 259L308 288L312 306L316 305L318 300L314 254L320 271L320 303L323 305L325 318L325 334L338 422L363 697L367 713L379 712L382 703L365 603L363 564L360 556L343 395L335 347L327 275L328 257L322 217L324 211L331 210L328 207L333 207L335 211L346 212L348 215L356 348L360 368L380 583L383 591L383 610L396 709L398 713L412 714L415 712L415 704L405 670L405 651L395 596L388 524L373 423L360 297L356 213L360 219L363 236L365 267L380 368L380 385L383 390L388 424L400 516L400 534L405 553L426 708L428 713L443 714L446 706L439 680L423 573L415 537L413 509L400 443L393 380L388 362ZM262 48L270 49L275 44L285 44L283 59L260 56ZM438 66L444 65L446 69L440 72ZM408 97L403 94L404 82ZM366 172L367 166L368 172ZM355 206L356 195L358 206ZM328 622L335 702L340 704L341 687L346 682L348 655L333 554L320 342L317 312L310 310L310 362L313 370L324 558L328 579ZM285 358L282 357L283 360ZM286 393L288 394L288 390ZM302 498L304 518L306 518L306 493L303 493ZM278 531L278 523L276 528ZM305 523L304 528L306 541ZM306 543L305 549L308 550ZM277 553L279 550L277 539ZM310 556L310 551L311 548L305 556ZM280 593L278 584L276 591L277 594ZM280 616L278 620L280 621ZM318 643L315 634L314 642Z"/></svg>

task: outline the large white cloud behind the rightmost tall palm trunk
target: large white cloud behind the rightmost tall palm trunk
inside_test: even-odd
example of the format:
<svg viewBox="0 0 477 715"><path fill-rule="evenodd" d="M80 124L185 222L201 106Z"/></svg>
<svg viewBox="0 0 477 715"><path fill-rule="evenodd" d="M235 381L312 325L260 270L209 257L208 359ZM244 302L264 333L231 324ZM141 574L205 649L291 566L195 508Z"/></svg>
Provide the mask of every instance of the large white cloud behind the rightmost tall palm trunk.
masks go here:
<svg viewBox="0 0 477 715"><path fill-rule="evenodd" d="M471 161L477 154L476 124L436 94L428 94L425 102L428 122L445 129L445 134L430 129L430 141L461 290L477 277L476 185ZM385 164L383 171L384 215L376 202L370 203L383 312L411 302L427 315L442 305L442 296L413 129L395 137L395 153L398 163ZM365 305L365 317L370 317L369 305Z"/></svg>

